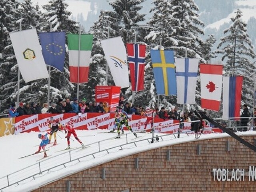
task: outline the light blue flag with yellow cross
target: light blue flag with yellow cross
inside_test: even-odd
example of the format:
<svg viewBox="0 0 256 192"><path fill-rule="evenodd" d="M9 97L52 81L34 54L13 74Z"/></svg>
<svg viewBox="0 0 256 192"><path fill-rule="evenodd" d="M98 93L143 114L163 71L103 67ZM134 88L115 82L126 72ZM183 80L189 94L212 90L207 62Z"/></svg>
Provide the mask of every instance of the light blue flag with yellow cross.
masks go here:
<svg viewBox="0 0 256 192"><path fill-rule="evenodd" d="M150 50L156 92L158 95L177 95L173 50Z"/></svg>

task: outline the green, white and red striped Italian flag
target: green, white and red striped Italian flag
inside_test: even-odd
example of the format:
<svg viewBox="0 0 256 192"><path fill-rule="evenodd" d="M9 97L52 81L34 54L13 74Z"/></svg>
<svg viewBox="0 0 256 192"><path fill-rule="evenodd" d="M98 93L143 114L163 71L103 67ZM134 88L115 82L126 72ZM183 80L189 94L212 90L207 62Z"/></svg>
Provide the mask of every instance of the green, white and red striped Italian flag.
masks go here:
<svg viewBox="0 0 256 192"><path fill-rule="evenodd" d="M92 34L81 34L79 49L79 34L68 34L68 54L70 82L87 83L89 74L89 64L92 52ZM79 62L80 50L80 62ZM78 64L79 62L79 64ZM78 66L79 65L79 66ZM78 81L79 67L79 81Z"/></svg>

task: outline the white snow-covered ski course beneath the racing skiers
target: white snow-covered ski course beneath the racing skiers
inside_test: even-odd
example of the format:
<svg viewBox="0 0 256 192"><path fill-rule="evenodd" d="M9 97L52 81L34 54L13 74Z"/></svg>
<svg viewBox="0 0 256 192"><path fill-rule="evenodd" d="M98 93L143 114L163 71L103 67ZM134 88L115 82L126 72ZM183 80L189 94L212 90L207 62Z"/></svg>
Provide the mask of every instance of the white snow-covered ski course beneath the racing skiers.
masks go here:
<svg viewBox="0 0 256 192"><path fill-rule="evenodd" d="M82 140L85 145L90 145L90 147L80 150L80 144L71 137L74 141L70 140L70 145L73 150L70 150L70 154L72 159L80 158L87 154L92 154L99 150L98 148L98 141L100 142L100 150L111 148L114 146L119 146L120 144L126 143L126 135L122 136L123 138L120 139L110 139L116 136L116 133L103 133L99 134L99 132L108 132L108 130L77 130L78 138ZM194 140L194 135L186 135L181 134L180 138L175 138L173 135L163 136L163 140L160 138L160 142L155 142L153 144L149 143L146 138L152 137L152 134L148 133L138 133L138 138L134 139L133 134L130 134L129 131L125 131L127 135L128 142L138 141L136 143L137 147L134 144L128 144L123 146L123 150L119 150L120 148L113 148L108 150L108 152L103 151L100 153L95 154L95 159L93 156L88 156L85 158L80 159L80 162L74 161L71 163L66 164L66 168L64 166L59 166L50 170L49 172L43 172L43 174L36 175L35 179L29 178L19 183L17 186L14 184L10 188L6 188L2 190L2 192L6 191L30 191L33 189L42 186L48 182L56 180L56 178L68 176L74 172L79 172L80 170L90 168L92 166L96 166L98 164L102 164L104 162L112 161L117 158L122 158L123 156L128 156L131 154L136 154L138 152L143 152L146 150L151 150L154 148L159 148L162 146L168 146L172 144L178 144L182 142L191 142ZM250 132L242 132L238 133L239 135L251 135L256 134L255 131ZM10 184L14 183L17 180L21 180L24 177L31 176L32 174L37 174L39 171L38 163L40 162L41 170L45 170L47 168L51 168L52 166L58 165L63 162L68 162L70 160L69 153L66 151L60 151L65 149L67 146L65 135L62 132L58 132L57 142L58 145L48 148L49 151L47 152L48 158L44 160L39 160L43 157L43 153L36 154L33 156L29 156L26 158L19 159L22 156L32 154L38 150L38 146L40 144L40 140L37 137L38 132L30 132L30 133L22 133L18 135L10 135L0 137L0 154L1 154L1 164L0 164L0 188L6 186L7 179L6 175L9 175L9 182ZM95 136L94 136L95 135ZM164 134L158 134L158 136ZM216 137L225 137L227 134L208 134L202 135L200 139L208 139L208 138L216 138ZM61 138L62 139L61 139ZM140 141L144 140L144 141ZM96 143L95 143L96 142ZM95 144L93 144L95 143ZM51 146L49 144L47 147ZM26 168L29 167L29 168ZM16 172L17 170L21 170L16 174L11 174ZM4 177L4 178L2 178Z"/></svg>

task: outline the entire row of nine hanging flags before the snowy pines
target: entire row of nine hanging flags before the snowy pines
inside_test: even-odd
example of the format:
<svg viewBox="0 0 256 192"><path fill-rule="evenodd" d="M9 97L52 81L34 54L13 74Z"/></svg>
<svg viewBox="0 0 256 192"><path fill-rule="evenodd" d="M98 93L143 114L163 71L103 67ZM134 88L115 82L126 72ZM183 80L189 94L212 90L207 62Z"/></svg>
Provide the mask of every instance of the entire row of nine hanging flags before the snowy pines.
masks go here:
<svg viewBox="0 0 256 192"><path fill-rule="evenodd" d="M46 65L63 71L65 32L39 33L36 29L10 33L20 72L25 82L49 78ZM92 34L67 34L70 82L88 82ZM133 91L144 90L146 45L127 43L121 37L101 41L116 86L129 86L128 64ZM127 52L126 52L127 50ZM150 50L157 94L177 95L178 104L195 104L197 58L174 58L173 50ZM127 60L128 56L128 60ZM223 77L222 65L200 64L201 107L219 111L223 83L223 117L238 117L242 77Z"/></svg>

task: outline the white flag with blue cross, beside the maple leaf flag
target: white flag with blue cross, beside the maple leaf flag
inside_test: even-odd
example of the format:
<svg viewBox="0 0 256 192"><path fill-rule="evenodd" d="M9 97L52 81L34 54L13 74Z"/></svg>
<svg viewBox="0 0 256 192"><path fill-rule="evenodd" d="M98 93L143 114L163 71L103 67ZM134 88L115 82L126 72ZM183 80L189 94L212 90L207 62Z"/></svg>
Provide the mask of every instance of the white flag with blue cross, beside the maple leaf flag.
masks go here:
<svg viewBox="0 0 256 192"><path fill-rule="evenodd" d="M196 79L199 59L175 58L177 103L195 104Z"/></svg>

